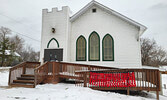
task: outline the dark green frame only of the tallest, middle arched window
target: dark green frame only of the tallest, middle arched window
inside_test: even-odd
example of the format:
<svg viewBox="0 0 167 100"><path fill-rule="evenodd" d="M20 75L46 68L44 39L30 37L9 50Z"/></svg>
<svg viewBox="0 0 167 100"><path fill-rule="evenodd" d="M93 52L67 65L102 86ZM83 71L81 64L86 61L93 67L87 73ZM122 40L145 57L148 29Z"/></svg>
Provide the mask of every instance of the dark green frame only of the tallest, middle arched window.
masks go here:
<svg viewBox="0 0 167 100"><path fill-rule="evenodd" d="M98 36L98 41L99 41L99 47L98 47L98 49L99 49L99 58L97 59L97 60L92 60L92 59L90 59L90 37L91 37L91 35L92 34L96 34L97 36ZM96 31L93 31L90 35L89 35L89 49L88 49L88 51L89 51L89 53L88 53L88 56L89 56L89 61L100 61L100 36L99 36L99 34L96 32Z"/></svg>

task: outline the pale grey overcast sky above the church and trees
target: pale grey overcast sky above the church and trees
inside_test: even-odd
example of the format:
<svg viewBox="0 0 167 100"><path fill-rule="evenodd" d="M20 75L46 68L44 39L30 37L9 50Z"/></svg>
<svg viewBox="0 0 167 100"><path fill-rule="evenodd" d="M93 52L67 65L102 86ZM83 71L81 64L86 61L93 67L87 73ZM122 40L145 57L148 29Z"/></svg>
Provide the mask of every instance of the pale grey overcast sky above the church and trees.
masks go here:
<svg viewBox="0 0 167 100"><path fill-rule="evenodd" d="M91 0L0 0L0 26L21 33L25 42L40 50L42 9L69 6L75 14ZM154 38L167 50L167 0L96 0L145 25L142 37Z"/></svg>

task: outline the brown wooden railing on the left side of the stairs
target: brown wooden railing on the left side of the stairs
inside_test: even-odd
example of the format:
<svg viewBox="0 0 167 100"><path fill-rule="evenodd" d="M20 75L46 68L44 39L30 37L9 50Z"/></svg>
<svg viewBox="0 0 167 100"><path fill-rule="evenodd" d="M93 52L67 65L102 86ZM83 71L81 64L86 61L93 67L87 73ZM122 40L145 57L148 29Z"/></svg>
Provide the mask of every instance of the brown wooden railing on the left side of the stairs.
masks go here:
<svg viewBox="0 0 167 100"><path fill-rule="evenodd" d="M8 84L12 84L13 80L20 77L22 74L34 74L34 68L38 67L40 62L23 62L18 64L9 70L9 81Z"/></svg>

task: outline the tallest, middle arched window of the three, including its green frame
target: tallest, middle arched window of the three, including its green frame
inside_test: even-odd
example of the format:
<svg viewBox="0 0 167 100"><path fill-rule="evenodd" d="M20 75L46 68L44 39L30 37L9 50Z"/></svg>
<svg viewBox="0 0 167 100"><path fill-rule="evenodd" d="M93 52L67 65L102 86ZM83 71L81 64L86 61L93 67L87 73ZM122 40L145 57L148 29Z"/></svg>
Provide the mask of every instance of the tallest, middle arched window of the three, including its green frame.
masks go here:
<svg viewBox="0 0 167 100"><path fill-rule="evenodd" d="M100 61L100 37L95 31L89 36L89 61Z"/></svg>

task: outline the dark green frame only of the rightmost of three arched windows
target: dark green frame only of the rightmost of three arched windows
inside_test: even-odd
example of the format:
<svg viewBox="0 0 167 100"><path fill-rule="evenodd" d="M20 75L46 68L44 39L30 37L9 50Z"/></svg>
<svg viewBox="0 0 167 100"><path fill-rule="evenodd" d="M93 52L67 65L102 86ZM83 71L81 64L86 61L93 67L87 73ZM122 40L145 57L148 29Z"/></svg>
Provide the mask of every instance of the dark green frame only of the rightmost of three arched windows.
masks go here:
<svg viewBox="0 0 167 100"><path fill-rule="evenodd" d="M105 60L104 59L104 43L103 42L104 42L104 39L105 39L106 36L109 36L112 39L112 55L113 55L113 59L112 60ZM113 39L113 37L110 34L106 34L103 37L103 40L102 40L102 58L103 58L103 61L114 61L114 39Z"/></svg>

